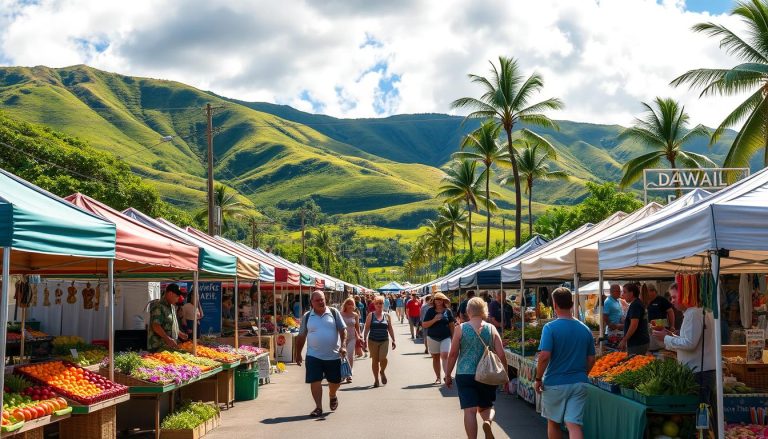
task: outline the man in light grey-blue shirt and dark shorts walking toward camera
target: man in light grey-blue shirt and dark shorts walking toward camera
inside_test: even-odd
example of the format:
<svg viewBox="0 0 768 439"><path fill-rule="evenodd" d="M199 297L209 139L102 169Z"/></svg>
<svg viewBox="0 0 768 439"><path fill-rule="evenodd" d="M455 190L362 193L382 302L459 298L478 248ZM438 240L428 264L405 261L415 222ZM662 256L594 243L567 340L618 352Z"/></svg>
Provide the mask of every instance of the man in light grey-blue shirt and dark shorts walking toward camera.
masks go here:
<svg viewBox="0 0 768 439"><path fill-rule="evenodd" d="M296 364L301 366L301 352L307 343L306 383L310 385L315 409L312 417L323 414L323 379L328 381L331 410L339 406L336 391L341 385L341 357L347 355L347 326L336 308L325 305L325 294L315 290L310 297L312 309L301 318L296 336Z"/></svg>

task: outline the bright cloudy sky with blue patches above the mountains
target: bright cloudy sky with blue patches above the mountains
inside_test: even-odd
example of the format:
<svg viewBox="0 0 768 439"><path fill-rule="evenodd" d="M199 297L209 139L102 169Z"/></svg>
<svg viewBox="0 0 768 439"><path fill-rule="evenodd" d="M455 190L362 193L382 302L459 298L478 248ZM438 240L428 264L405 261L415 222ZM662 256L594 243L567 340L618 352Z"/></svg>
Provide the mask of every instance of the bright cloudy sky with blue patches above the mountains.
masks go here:
<svg viewBox="0 0 768 439"><path fill-rule="evenodd" d="M724 0L0 0L0 64L91 66L338 117L450 112L468 73L516 57L558 119L628 124L640 102L683 101L720 122L734 98L669 81L736 61L694 34L739 29Z"/></svg>

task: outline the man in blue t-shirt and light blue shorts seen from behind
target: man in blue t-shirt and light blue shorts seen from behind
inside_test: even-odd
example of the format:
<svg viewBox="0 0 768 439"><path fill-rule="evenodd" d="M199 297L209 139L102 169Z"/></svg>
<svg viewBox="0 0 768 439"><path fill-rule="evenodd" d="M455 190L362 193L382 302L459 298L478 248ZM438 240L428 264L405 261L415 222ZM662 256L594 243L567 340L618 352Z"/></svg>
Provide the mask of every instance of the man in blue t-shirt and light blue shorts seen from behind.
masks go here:
<svg viewBox="0 0 768 439"><path fill-rule="evenodd" d="M587 373L595 364L595 340L587 325L571 316L571 290L552 292L557 319L544 325L536 366L536 391L541 393L541 415L547 418L547 437L562 438L560 424L568 426L568 437L581 439Z"/></svg>

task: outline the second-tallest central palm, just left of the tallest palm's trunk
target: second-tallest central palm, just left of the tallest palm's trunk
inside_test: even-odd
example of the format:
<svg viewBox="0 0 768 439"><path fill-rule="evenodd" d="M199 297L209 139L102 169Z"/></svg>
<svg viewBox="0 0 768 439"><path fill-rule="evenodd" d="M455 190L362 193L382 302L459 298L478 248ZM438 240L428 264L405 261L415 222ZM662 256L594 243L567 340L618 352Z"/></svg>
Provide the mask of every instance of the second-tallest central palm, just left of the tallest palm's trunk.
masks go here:
<svg viewBox="0 0 768 439"><path fill-rule="evenodd" d="M499 138L501 125L493 120L488 120L480 125L480 128L467 134L461 142L461 149L453 154L454 158L474 160L485 165L485 198L491 199L491 166L494 164L509 163L509 151L506 151L496 140ZM465 151L470 148L471 151ZM487 223L485 226L485 258L491 250L491 210L488 209Z"/></svg>

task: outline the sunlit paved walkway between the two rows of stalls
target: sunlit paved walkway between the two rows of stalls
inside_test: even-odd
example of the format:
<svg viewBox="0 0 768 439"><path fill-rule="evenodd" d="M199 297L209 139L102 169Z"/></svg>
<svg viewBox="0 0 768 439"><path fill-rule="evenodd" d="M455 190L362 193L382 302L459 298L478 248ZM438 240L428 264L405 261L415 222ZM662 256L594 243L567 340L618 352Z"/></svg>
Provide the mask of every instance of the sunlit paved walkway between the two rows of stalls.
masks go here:
<svg viewBox="0 0 768 439"><path fill-rule="evenodd" d="M386 386L372 388L370 360L357 360L353 383L339 390L338 410L310 418L314 403L304 384L304 368L288 365L285 373L272 375L272 383L259 389L255 401L238 402L222 411L221 426L206 438L466 437L455 388L431 384L431 360L424 355L424 345L410 339L408 325L396 324L395 332L399 343L389 353ZM327 388L323 391L323 408L328 412ZM515 396L499 394L496 411L497 438L546 437L545 421Z"/></svg>

